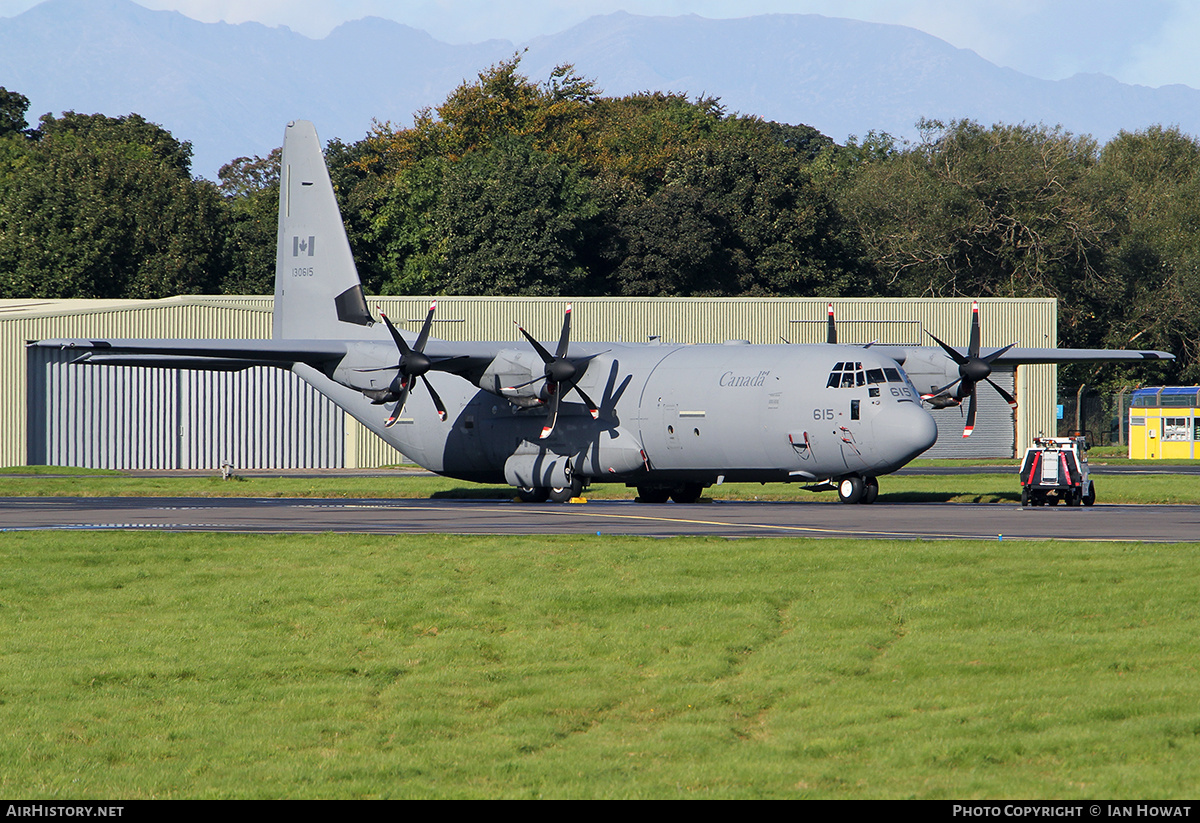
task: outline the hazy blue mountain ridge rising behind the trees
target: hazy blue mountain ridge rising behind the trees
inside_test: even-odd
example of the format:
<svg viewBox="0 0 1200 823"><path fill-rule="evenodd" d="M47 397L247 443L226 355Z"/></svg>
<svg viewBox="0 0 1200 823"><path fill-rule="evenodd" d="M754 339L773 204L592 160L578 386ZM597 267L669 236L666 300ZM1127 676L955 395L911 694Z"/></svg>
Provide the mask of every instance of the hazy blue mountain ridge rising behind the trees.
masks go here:
<svg viewBox="0 0 1200 823"><path fill-rule="evenodd" d="M0 85L30 98L28 119L136 112L190 140L193 172L210 179L238 156L269 152L296 118L348 142L374 120L407 125L515 54L535 82L570 62L607 95L714 96L727 110L805 124L839 143L869 131L911 139L922 118L1061 125L1100 142L1157 124L1200 133L1200 91L1184 85L1043 80L917 29L818 14L613 12L523 44L450 44L377 17L312 40L132 0L46 0L0 18Z"/></svg>

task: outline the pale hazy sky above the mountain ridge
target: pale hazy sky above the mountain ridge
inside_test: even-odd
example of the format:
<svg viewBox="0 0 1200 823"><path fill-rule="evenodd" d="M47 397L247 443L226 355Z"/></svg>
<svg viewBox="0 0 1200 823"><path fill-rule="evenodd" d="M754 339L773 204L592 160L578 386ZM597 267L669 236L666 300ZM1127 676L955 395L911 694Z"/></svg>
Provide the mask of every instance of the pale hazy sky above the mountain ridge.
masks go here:
<svg viewBox="0 0 1200 823"><path fill-rule="evenodd" d="M137 0L197 20L287 25L324 37L344 20L385 17L451 43L521 42L593 14L748 17L816 13L920 29L1044 79L1102 72L1124 83L1200 89L1195 0ZM0 0L12 17L37 0Z"/></svg>

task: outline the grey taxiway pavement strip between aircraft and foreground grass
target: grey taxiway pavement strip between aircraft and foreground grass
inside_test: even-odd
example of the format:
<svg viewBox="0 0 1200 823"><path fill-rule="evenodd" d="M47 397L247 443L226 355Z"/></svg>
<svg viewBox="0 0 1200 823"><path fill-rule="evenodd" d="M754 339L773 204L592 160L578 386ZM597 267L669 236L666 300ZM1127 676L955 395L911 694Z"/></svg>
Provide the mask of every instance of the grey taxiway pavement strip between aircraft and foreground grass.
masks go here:
<svg viewBox="0 0 1200 823"><path fill-rule="evenodd" d="M280 498L0 498L0 530L619 534L722 537L1200 541L1200 506Z"/></svg>

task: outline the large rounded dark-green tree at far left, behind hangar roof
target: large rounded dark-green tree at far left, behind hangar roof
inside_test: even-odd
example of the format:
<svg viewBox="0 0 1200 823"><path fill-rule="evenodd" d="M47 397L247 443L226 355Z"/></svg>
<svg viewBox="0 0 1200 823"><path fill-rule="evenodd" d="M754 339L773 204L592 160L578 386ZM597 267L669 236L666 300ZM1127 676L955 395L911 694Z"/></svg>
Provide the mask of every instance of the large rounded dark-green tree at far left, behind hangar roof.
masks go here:
<svg viewBox="0 0 1200 823"><path fill-rule="evenodd" d="M0 294L161 298L211 290L215 187L191 145L143 118L46 115L0 168Z"/></svg>

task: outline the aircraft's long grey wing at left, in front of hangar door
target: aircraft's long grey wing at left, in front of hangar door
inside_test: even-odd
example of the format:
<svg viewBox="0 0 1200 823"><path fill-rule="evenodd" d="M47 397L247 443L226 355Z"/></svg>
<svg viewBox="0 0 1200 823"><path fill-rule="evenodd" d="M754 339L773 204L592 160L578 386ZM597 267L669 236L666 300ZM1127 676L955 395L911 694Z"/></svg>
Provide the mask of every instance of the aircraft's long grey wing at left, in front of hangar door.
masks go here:
<svg viewBox="0 0 1200 823"><path fill-rule="evenodd" d="M238 370L322 367L346 356L342 341L299 340L41 340L30 346L78 352L79 362L104 366Z"/></svg>

